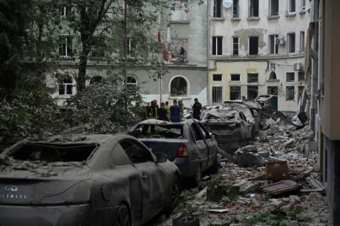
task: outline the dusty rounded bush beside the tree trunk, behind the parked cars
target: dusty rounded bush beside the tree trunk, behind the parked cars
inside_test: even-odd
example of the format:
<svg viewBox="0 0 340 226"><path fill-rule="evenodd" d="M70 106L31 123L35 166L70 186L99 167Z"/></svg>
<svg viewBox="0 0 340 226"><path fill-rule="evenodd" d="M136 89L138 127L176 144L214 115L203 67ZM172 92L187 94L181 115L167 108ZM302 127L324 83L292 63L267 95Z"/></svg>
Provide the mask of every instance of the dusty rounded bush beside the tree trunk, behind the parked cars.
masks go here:
<svg viewBox="0 0 340 226"><path fill-rule="evenodd" d="M89 124L89 132L119 133L137 123L135 112L141 101L138 88L96 83L67 100L64 119L70 126Z"/></svg>

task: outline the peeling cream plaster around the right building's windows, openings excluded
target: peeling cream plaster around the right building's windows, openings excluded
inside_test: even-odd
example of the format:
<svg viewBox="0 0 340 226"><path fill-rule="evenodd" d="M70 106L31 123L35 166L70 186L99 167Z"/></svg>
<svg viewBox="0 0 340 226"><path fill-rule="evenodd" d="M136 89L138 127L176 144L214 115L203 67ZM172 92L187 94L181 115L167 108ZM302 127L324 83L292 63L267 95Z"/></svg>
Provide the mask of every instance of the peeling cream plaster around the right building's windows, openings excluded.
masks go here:
<svg viewBox="0 0 340 226"><path fill-rule="evenodd" d="M278 95L278 109L280 111L297 111L297 93L295 100L285 100L287 86L304 86L305 83L298 82L298 71L294 71L294 63L304 62L304 53L300 53L300 32L305 32L310 23L310 12L300 11L300 1L296 3L296 12L287 15L287 1L279 1L279 16L268 17L268 1L259 1L259 19L249 20L248 1L239 1L239 20L232 19L232 7L223 9L223 18L212 18L212 6L210 7L210 49L212 47L212 36L223 37L223 56L212 56L210 50L208 99L212 102L212 86L221 85L221 82L212 81L214 73L222 74L223 98L229 99L229 86L241 85L241 96L247 95L246 85L258 85L259 95L267 94L268 86L282 87L283 92ZM310 8L309 1L306 1ZM295 32L295 53L288 54L287 34ZM285 44L278 46L278 54L268 54L269 35L284 37ZM239 37L239 56L232 56L232 37ZM248 56L249 36L259 37L259 54ZM305 41L306 43L306 41ZM279 82L267 82L269 78L268 63L276 64L276 76ZM278 66L280 65L280 66ZM295 81L286 82L286 73L294 72ZM229 83L230 73L241 74L241 82ZM246 83L247 73L259 73L259 83ZM282 85L282 86L281 86Z"/></svg>

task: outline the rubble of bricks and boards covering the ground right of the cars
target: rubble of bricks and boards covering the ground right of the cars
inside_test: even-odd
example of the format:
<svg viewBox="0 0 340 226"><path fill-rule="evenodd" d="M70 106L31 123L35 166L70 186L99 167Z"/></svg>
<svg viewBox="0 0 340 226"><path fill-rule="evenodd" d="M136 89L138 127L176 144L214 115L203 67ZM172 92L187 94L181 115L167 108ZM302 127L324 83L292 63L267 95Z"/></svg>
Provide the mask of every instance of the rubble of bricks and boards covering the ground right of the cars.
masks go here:
<svg viewBox="0 0 340 226"><path fill-rule="evenodd" d="M187 206L200 226L332 225L325 189L319 182L318 153L310 150L311 136L308 126L288 129L276 121L234 155L220 150L217 174L237 187L239 194L208 200L207 184L213 175L205 175L198 189L182 192L193 198L181 200L170 218L153 226L173 225L174 218L188 214L183 213Z"/></svg>

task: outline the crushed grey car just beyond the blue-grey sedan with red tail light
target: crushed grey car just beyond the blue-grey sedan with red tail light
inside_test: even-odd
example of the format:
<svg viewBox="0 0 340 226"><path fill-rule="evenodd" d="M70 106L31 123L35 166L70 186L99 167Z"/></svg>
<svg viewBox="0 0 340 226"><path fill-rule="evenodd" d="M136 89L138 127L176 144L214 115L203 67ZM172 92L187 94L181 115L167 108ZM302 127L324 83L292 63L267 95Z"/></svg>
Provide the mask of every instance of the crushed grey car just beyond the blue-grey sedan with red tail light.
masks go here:
<svg viewBox="0 0 340 226"><path fill-rule="evenodd" d="M251 123L238 109L210 110L205 112L201 122L210 133L217 133L217 144L227 153L234 153L254 139Z"/></svg>

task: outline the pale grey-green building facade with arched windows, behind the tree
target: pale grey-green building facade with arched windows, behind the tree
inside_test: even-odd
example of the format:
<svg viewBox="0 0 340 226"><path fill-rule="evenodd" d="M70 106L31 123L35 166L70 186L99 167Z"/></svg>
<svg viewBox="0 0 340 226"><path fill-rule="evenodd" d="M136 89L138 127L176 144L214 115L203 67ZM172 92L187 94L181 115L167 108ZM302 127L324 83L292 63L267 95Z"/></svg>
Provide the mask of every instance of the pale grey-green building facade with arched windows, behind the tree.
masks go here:
<svg viewBox="0 0 340 226"><path fill-rule="evenodd" d="M158 59L165 64L163 68L165 73L159 78L157 69L150 69L149 65L140 65L137 61L134 66L130 66L135 61L134 53L138 51L138 44L128 39L127 83L140 86L145 102L157 99L159 103L169 101L172 104L174 99L181 98L184 105L190 106L197 97L203 105L207 105L207 6L198 4L197 0L169 1L168 4L169 8L157 9L159 19L157 23L152 24L153 30L149 30L154 34L154 40L158 39L162 45ZM64 11L61 13L64 33L68 33L67 17ZM60 48L75 49L77 45L75 40L70 39ZM123 41L121 43L123 48ZM58 66L60 71L77 75L77 62L66 51L60 54ZM93 80L107 78L108 70L123 67L123 64L108 64L105 59L93 57L91 53L86 68L86 75L89 76L86 85ZM152 75L155 75L156 79L153 79ZM51 79L47 85L52 86L56 83L57 81ZM60 105L77 93L76 80L72 76L58 85L60 89L55 91L53 97L57 98Z"/></svg>

